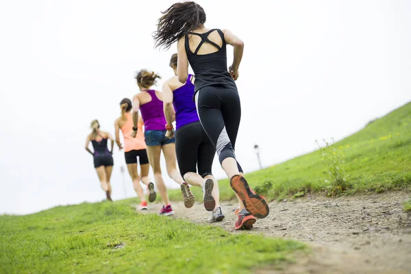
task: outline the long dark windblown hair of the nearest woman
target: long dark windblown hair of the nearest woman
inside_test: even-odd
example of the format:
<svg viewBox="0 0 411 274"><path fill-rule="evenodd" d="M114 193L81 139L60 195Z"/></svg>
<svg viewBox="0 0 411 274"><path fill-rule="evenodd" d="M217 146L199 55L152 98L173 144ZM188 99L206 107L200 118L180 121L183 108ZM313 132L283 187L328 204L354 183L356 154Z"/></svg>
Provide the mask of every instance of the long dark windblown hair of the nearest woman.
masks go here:
<svg viewBox="0 0 411 274"><path fill-rule="evenodd" d="M164 49L169 49L173 42L206 23L206 12L193 1L175 3L162 14L153 38L155 47Z"/></svg>

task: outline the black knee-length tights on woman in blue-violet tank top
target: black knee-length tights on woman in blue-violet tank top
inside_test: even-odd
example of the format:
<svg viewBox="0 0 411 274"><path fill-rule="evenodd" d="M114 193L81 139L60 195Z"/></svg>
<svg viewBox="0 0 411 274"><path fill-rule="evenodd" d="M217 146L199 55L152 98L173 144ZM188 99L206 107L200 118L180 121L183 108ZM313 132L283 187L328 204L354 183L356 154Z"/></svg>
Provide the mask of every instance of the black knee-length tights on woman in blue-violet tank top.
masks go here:
<svg viewBox="0 0 411 274"><path fill-rule="evenodd" d="M181 175L188 172L206 177L212 175L212 161L216 149L199 121L189 123L175 132L175 152Z"/></svg>

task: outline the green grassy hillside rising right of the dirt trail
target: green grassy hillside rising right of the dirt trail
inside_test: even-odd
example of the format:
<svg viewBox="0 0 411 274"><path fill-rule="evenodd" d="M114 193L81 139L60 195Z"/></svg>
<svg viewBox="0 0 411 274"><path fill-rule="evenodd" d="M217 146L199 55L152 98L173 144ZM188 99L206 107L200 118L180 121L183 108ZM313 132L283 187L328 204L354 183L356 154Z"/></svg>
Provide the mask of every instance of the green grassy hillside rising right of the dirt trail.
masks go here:
<svg viewBox="0 0 411 274"><path fill-rule="evenodd" d="M343 167L349 175L347 194L409 189L411 103L370 122L360 132L333 146L345 155ZM327 194L331 185L326 182L329 181L327 169L318 150L247 174L246 178L253 188L259 186L260 190L264 190L260 194L269 199L300 197L311 192ZM228 179L219 181L219 186L221 199L234 199ZM197 199L201 199L199 189L193 188L193 192ZM171 191L170 197L173 200L182 199L179 190Z"/></svg>

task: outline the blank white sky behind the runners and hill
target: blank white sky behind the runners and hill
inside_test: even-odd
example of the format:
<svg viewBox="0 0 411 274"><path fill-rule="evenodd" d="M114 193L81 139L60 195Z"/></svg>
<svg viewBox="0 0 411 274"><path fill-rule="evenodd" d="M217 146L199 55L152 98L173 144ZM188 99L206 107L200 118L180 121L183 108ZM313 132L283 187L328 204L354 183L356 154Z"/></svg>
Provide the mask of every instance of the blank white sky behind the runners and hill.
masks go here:
<svg viewBox="0 0 411 274"><path fill-rule="evenodd" d="M160 52L151 39L172 3L0 2L0 213L104 198L84 150L90 121L114 134L119 101L138 92L134 71L173 75L175 47ZM269 166L411 100L411 1L198 3L207 27L245 41L236 147L245 171L258 169L256 143ZM231 62L232 49L227 55ZM123 199L117 149L114 164L113 198ZM214 174L225 176L218 161ZM128 174L125 183L127 197L136 197Z"/></svg>

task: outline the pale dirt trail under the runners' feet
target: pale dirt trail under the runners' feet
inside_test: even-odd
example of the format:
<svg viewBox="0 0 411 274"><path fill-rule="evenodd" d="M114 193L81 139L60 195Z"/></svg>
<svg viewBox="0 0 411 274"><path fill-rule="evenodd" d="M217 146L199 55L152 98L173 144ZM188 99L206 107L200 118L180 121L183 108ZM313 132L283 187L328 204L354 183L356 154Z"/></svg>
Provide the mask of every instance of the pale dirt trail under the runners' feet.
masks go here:
<svg viewBox="0 0 411 274"><path fill-rule="evenodd" d="M222 203L225 220L219 225L232 233L264 234L308 243L313 252L298 256L286 270L256 269L256 273L411 273L411 217L402 212L407 192L329 199L309 196L270 203L270 215L252 230L234 230L234 202ZM150 205L147 213L160 209ZM174 203L175 216L208 224L201 203L185 208Z"/></svg>

